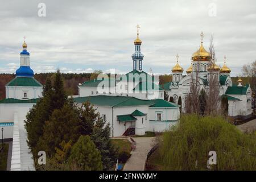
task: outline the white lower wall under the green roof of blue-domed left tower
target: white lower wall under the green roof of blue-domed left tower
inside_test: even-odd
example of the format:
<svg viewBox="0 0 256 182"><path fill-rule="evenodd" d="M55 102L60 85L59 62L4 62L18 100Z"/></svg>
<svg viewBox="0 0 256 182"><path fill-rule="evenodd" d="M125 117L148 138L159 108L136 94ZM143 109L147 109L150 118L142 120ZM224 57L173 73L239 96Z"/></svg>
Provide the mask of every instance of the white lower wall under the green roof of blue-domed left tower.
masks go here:
<svg viewBox="0 0 256 182"><path fill-rule="evenodd" d="M42 97L42 86L6 86L6 98L16 98L22 100L24 92L27 93L27 98Z"/></svg>

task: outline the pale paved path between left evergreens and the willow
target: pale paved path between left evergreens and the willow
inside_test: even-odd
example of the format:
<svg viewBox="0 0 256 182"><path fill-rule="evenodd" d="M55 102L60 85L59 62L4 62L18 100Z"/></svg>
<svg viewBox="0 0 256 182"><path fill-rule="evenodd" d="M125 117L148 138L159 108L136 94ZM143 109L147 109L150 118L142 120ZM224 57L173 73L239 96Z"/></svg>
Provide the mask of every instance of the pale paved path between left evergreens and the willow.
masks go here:
<svg viewBox="0 0 256 182"><path fill-rule="evenodd" d="M131 157L125 163L123 171L144 171L147 153L155 143L155 137L135 137L136 149L131 152Z"/></svg>

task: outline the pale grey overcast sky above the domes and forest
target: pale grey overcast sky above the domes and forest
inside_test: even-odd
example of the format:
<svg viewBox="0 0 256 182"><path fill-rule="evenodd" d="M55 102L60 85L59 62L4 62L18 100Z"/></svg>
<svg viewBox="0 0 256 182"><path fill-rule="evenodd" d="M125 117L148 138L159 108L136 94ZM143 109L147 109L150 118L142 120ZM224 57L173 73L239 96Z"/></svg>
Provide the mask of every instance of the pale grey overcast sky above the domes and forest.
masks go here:
<svg viewBox="0 0 256 182"><path fill-rule="evenodd" d="M46 16L38 16L45 3ZM216 5L216 12L214 11ZM241 73L256 59L256 2L251 1L3 1L0 6L0 73L15 73L26 36L34 72L118 73L133 69L139 23L143 70L171 73L179 54L187 69L200 46L214 35L217 64Z"/></svg>

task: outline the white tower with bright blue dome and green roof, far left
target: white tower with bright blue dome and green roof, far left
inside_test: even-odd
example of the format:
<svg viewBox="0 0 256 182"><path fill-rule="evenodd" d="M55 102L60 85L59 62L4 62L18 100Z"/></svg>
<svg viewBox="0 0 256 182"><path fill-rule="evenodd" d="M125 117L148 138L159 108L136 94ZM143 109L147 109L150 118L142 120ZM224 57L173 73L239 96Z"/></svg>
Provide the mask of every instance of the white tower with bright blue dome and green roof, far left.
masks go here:
<svg viewBox="0 0 256 182"><path fill-rule="evenodd" d="M30 53L27 52L25 40L22 48L20 67L16 70L16 76L5 85L6 98L30 100L42 97L43 85L34 78L34 71L30 68Z"/></svg>

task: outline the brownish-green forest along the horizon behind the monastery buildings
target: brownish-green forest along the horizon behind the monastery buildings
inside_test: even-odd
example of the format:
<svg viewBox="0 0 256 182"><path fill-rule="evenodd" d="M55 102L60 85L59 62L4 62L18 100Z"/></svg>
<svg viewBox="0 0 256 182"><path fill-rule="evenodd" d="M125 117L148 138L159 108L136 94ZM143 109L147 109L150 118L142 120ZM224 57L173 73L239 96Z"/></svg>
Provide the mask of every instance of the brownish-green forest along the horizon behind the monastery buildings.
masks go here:
<svg viewBox="0 0 256 182"><path fill-rule="evenodd" d="M35 73L34 77L42 85L46 83L46 78L49 76L51 80L53 79L54 73ZM77 85L84 81L92 80L97 77L97 73L61 73L64 81L64 89L69 96L77 95L78 88ZM5 85L15 77L15 74L0 74L0 100L5 98ZM247 77L241 77L243 84L248 83ZM237 85L238 77L232 77L233 84ZM171 75L160 75L159 76L159 85L162 85L166 82L172 81Z"/></svg>

